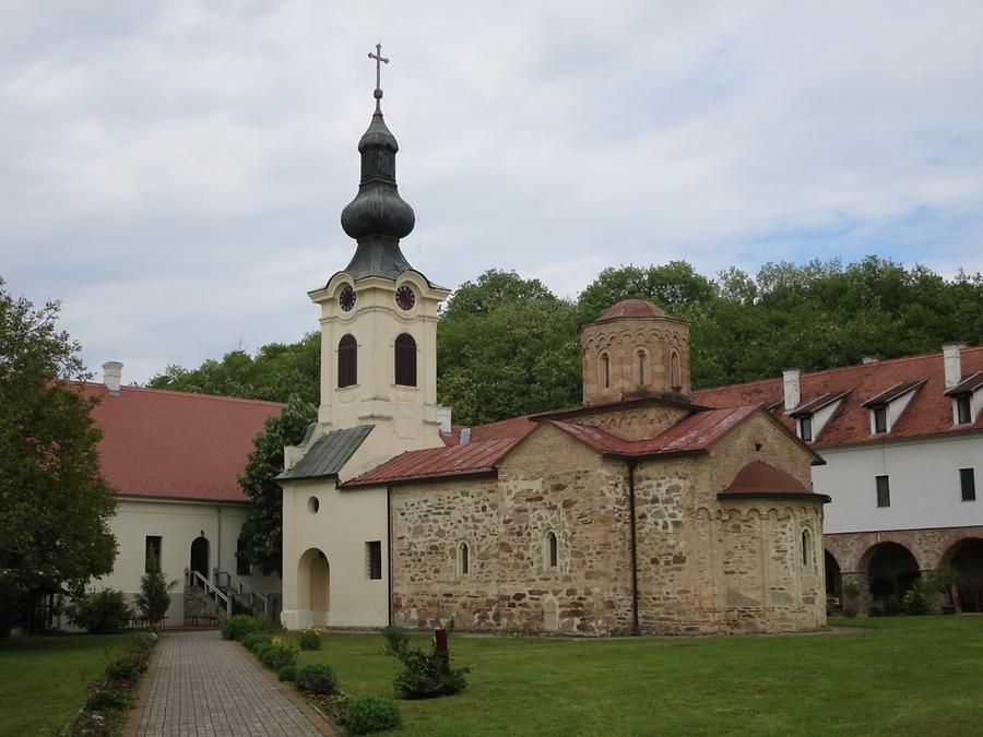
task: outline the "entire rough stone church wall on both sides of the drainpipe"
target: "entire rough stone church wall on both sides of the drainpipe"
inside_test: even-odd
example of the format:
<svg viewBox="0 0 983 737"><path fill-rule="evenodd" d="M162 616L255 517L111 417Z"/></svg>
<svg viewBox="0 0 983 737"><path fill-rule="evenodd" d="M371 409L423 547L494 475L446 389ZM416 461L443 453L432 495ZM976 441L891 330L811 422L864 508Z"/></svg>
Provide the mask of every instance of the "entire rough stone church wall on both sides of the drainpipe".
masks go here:
<svg viewBox="0 0 983 737"><path fill-rule="evenodd" d="M753 460L808 483L808 451L763 416L708 454L637 466L643 632L798 631L825 623L821 503L716 500ZM601 459L543 426L501 463L497 479L394 487L391 515L400 626L429 628L453 617L457 627L476 631L631 631L625 461ZM555 568L550 533L558 543Z"/></svg>

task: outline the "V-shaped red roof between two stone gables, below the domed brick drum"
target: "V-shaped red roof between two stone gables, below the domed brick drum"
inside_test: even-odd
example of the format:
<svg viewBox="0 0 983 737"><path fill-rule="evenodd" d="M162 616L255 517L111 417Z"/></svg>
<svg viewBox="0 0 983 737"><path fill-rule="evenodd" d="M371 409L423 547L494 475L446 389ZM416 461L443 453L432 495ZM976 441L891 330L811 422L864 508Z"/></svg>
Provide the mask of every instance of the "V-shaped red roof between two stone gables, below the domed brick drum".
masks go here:
<svg viewBox="0 0 983 737"><path fill-rule="evenodd" d="M698 412L679 420L648 440L624 440L590 425L548 420L550 425L577 438L599 453L612 455L660 455L692 453L708 449L718 439L747 419L758 407L730 407Z"/></svg>

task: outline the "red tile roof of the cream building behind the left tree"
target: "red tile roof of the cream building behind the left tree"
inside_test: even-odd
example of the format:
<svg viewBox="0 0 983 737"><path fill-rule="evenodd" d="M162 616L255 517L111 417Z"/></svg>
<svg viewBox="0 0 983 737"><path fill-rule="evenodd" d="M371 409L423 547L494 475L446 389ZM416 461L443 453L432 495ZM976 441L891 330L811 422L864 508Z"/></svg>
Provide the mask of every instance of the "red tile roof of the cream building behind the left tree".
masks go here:
<svg viewBox="0 0 983 737"><path fill-rule="evenodd" d="M110 396L103 384L85 394L102 397L92 416L103 429L103 475L119 494L248 501L238 486L253 438L282 404L159 389L122 387Z"/></svg>

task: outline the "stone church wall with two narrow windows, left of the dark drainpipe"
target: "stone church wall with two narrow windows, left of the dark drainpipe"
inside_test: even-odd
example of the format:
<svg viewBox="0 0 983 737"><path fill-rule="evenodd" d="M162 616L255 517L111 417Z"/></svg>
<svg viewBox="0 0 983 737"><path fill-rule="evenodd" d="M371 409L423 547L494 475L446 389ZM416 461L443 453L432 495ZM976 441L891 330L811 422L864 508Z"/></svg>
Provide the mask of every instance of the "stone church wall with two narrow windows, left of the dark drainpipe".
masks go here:
<svg viewBox="0 0 983 737"><path fill-rule="evenodd" d="M506 459L498 479L395 487L395 623L431 627L453 616L466 630L627 632L623 468L543 427ZM462 542L470 546L467 574L459 570Z"/></svg>

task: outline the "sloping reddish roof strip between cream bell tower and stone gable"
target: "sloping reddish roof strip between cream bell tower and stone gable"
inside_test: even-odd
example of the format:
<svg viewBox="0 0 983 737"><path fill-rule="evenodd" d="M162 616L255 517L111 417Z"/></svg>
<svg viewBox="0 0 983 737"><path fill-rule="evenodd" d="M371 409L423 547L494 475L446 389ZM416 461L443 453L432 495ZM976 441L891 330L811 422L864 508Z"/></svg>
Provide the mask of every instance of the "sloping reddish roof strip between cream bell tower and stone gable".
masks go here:
<svg viewBox="0 0 983 737"><path fill-rule="evenodd" d="M520 439L485 440L464 445L428 448L396 455L343 486L376 486L426 478L492 473Z"/></svg>

